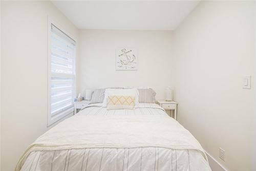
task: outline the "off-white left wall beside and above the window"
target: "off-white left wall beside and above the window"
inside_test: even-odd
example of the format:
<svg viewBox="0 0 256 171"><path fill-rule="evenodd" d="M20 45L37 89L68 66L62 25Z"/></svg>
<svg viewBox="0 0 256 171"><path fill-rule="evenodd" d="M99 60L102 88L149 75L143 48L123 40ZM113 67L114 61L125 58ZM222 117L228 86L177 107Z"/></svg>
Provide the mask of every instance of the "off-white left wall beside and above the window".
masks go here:
<svg viewBox="0 0 256 171"><path fill-rule="evenodd" d="M11 171L47 128L47 17L78 30L49 1L4 1L1 9L1 170Z"/></svg>

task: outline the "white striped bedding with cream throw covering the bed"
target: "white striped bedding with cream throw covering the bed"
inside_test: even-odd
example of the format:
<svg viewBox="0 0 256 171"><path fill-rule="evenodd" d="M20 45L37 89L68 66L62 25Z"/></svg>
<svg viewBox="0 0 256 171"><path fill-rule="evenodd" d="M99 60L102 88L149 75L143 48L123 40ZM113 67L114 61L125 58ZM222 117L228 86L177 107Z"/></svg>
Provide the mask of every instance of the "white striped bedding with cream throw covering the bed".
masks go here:
<svg viewBox="0 0 256 171"><path fill-rule="evenodd" d="M40 136L16 170L210 170L198 141L157 104L90 105Z"/></svg>

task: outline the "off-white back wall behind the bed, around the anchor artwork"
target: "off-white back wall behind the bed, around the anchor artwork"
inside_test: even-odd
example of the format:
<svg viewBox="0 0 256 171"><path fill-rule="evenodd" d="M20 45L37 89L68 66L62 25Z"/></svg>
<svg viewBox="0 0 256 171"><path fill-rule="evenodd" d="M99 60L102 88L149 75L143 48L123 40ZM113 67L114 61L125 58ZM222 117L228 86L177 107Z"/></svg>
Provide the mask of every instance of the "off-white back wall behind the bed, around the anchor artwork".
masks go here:
<svg viewBox="0 0 256 171"><path fill-rule="evenodd" d="M164 98L164 88L171 85L170 65L172 32L79 30L77 88L84 89L123 86L152 87L158 99ZM138 49L137 71L115 70L115 49Z"/></svg>

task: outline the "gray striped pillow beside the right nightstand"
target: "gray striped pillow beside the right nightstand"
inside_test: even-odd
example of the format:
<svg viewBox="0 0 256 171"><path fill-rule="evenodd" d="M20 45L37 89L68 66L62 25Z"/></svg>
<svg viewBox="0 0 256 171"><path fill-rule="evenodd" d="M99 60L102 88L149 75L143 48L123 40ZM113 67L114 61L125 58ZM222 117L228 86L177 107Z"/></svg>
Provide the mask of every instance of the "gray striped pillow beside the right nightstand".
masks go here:
<svg viewBox="0 0 256 171"><path fill-rule="evenodd" d="M155 103L156 92L153 89L138 89L139 103Z"/></svg>

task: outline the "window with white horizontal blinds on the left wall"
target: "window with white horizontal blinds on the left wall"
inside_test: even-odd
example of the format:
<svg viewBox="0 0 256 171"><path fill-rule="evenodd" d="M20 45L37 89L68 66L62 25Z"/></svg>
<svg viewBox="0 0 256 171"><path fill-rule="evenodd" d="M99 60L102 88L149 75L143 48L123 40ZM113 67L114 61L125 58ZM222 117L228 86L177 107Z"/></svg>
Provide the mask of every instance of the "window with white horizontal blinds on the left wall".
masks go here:
<svg viewBox="0 0 256 171"><path fill-rule="evenodd" d="M48 35L48 126L74 112L76 42L53 22Z"/></svg>

